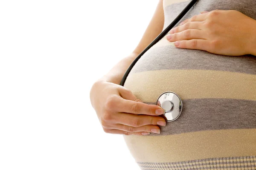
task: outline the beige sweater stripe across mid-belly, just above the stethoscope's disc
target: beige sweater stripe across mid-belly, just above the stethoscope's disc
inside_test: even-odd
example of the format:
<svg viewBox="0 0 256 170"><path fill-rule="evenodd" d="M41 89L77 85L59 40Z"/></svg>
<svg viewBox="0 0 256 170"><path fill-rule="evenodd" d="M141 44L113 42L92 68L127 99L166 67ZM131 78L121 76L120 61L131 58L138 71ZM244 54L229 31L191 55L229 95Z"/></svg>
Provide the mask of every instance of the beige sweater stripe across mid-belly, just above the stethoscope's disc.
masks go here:
<svg viewBox="0 0 256 170"><path fill-rule="evenodd" d="M256 75L229 71L144 71L129 75L124 87L143 102L156 102L166 91L177 93L181 99L256 100Z"/></svg>

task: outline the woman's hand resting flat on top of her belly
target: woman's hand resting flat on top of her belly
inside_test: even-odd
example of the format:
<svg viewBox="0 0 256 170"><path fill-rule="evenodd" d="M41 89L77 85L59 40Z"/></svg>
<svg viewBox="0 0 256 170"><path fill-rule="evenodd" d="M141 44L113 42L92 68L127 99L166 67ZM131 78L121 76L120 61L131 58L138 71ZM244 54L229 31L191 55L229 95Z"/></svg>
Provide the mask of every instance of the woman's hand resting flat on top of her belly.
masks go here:
<svg viewBox="0 0 256 170"><path fill-rule="evenodd" d="M253 54L256 48L256 20L235 10L205 11L169 31L167 40L176 41L178 48L214 54Z"/></svg>

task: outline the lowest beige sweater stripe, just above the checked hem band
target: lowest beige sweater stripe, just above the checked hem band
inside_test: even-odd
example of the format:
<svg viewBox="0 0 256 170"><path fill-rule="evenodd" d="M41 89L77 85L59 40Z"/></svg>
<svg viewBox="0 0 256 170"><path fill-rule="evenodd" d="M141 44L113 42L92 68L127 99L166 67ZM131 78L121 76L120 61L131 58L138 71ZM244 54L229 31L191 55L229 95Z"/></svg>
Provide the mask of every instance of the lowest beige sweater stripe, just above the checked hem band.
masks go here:
<svg viewBox="0 0 256 170"><path fill-rule="evenodd" d="M174 162L256 155L256 129L123 137L137 162Z"/></svg>

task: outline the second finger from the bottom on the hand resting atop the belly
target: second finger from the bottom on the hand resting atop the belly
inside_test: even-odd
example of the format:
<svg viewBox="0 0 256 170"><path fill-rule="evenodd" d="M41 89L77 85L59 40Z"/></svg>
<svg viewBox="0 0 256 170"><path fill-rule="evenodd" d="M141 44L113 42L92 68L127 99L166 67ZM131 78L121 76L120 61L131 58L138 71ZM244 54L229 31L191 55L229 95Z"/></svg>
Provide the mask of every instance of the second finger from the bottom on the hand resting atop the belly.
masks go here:
<svg viewBox="0 0 256 170"><path fill-rule="evenodd" d="M178 40L205 39L205 35L204 31L198 29L187 29L175 34L169 34L166 38L168 41L173 42Z"/></svg>

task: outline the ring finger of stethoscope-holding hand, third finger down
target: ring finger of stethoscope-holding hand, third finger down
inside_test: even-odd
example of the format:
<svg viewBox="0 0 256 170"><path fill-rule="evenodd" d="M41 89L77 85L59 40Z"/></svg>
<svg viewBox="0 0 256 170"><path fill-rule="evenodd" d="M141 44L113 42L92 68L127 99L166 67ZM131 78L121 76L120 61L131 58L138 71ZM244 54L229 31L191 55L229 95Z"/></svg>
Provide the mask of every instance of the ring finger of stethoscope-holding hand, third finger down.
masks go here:
<svg viewBox="0 0 256 170"><path fill-rule="evenodd" d="M119 129L127 132L149 132L149 133L160 133L160 128L155 125L145 125L140 127L132 127L122 124L116 124L114 129Z"/></svg>

